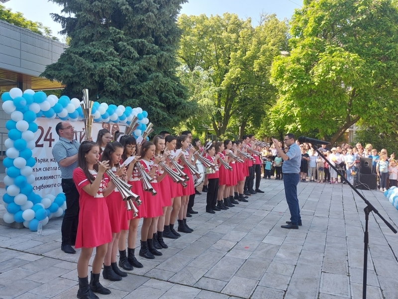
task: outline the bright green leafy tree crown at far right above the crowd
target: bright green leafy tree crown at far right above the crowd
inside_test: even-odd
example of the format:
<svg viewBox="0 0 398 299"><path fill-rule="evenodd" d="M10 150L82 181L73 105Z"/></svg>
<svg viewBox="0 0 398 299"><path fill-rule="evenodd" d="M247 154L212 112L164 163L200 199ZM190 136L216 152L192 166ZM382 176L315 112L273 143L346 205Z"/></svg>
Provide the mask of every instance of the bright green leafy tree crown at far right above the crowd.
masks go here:
<svg viewBox="0 0 398 299"><path fill-rule="evenodd" d="M387 133L398 109L398 12L391 0L304 0L277 59L271 123L335 141L359 120Z"/></svg>

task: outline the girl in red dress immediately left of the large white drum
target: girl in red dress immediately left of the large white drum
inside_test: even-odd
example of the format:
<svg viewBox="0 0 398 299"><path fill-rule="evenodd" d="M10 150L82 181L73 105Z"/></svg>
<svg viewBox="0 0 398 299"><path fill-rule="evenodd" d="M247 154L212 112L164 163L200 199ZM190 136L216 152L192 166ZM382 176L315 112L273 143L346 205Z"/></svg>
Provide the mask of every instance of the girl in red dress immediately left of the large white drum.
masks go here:
<svg viewBox="0 0 398 299"><path fill-rule="evenodd" d="M186 160L195 166L196 158L193 161L192 155L195 152L195 148L189 148L191 145L190 139L187 135L181 135L177 138L177 145L176 149L182 149L182 155L185 156ZM183 188L183 196L181 197L181 208L178 212L178 231L183 233L192 233L194 230L187 225L187 210L188 210L188 201L191 194L195 194L195 187L194 187L194 178L192 173L190 172L189 168L182 162L180 159L179 164L184 166L183 171L188 175L190 178L187 181L187 187Z"/></svg>

